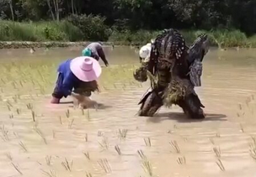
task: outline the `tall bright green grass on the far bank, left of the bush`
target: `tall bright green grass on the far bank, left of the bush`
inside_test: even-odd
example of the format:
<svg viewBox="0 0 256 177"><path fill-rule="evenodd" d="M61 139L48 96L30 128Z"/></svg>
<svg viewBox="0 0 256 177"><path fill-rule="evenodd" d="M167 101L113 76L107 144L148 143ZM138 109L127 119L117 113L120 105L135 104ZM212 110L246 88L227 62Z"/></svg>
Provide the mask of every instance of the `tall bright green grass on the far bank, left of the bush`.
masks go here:
<svg viewBox="0 0 256 177"><path fill-rule="evenodd" d="M82 32L67 21L18 23L0 21L0 40L17 41L78 41Z"/></svg>

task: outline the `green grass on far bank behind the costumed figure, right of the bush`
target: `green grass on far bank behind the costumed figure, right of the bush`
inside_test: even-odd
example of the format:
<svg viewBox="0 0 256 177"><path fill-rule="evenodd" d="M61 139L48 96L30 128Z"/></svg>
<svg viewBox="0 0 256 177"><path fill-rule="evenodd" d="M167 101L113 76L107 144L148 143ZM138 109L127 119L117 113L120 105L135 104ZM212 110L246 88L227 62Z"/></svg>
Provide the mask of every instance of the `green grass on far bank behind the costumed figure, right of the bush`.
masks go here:
<svg viewBox="0 0 256 177"><path fill-rule="evenodd" d="M239 30L180 30L184 35L187 44L193 43L196 37L201 34L209 34L211 45L225 47L256 47L256 34L248 38L246 34ZM113 32L109 41L118 42L119 44L147 44L150 39L154 39L160 32L156 31L137 31L131 33L125 32Z"/></svg>

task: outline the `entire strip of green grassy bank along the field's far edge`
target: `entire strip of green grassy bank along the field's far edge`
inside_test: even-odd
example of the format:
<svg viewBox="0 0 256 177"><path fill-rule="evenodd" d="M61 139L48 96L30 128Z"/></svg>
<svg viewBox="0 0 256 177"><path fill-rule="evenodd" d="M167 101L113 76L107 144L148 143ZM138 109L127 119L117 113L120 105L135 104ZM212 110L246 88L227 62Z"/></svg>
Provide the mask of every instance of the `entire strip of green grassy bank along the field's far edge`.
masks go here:
<svg viewBox="0 0 256 177"><path fill-rule="evenodd" d="M96 19L99 20L99 19ZM114 44L147 44L150 39L154 39L159 32L157 31L144 31L140 30L137 32L131 32L125 30L118 32L111 30L110 28L105 29L102 33L92 33L93 29L84 28L81 23L72 23L74 20L63 20L57 22L38 22L38 23L18 23L10 21L0 21L0 41L34 41L40 46L40 42L81 42L81 41L92 41L92 40L103 40L109 41ZM90 19L89 23L93 23L93 18ZM87 26L89 25L87 23ZM78 25L79 24L79 25ZM102 23L100 24L102 25ZM95 23L93 23L95 26ZM100 26L103 28L103 26ZM104 27L106 28L106 27ZM247 37L239 30L181 30L184 35L187 44L191 44L198 34L206 33L209 34L211 39L211 45L219 47L256 47L256 35ZM90 34L90 36L88 36ZM106 38L107 36L107 38ZM17 43L18 44L18 43ZM19 43L23 44L23 43ZM18 45L19 45L18 44ZM35 43L36 44L36 43ZM52 46L55 46L53 43ZM51 42L50 42L51 45ZM65 44L62 44L65 46ZM0 47L4 48L4 46ZM17 46L16 46L17 48Z"/></svg>

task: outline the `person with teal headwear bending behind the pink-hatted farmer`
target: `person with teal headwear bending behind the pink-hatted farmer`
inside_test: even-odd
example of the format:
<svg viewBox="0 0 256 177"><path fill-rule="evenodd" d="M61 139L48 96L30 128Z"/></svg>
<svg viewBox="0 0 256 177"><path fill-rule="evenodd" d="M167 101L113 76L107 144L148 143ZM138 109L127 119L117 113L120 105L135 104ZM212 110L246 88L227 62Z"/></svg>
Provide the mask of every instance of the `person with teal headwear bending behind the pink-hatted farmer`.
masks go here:
<svg viewBox="0 0 256 177"><path fill-rule="evenodd" d="M102 47L102 44L100 44L100 43L88 44L88 46L85 49L83 49L82 55L83 56L86 55L88 53L88 50L90 50L91 57L93 57L95 60L99 61L99 58L101 58L101 60L103 60L103 62L106 66L109 65L109 62L105 57L104 49Z"/></svg>

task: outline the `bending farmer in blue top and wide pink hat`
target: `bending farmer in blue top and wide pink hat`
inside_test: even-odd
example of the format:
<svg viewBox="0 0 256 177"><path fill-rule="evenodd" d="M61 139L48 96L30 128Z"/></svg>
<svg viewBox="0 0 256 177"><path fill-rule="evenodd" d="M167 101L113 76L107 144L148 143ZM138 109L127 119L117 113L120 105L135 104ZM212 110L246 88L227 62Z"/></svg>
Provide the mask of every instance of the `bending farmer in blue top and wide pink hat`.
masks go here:
<svg viewBox="0 0 256 177"><path fill-rule="evenodd" d="M73 93L91 96L92 91L99 91L96 80L101 74L101 67L92 57L80 56L65 60L57 71L59 74L51 99L53 104L58 104L62 97Z"/></svg>

